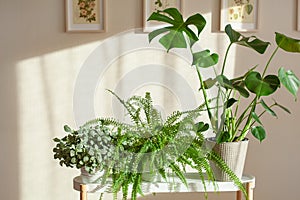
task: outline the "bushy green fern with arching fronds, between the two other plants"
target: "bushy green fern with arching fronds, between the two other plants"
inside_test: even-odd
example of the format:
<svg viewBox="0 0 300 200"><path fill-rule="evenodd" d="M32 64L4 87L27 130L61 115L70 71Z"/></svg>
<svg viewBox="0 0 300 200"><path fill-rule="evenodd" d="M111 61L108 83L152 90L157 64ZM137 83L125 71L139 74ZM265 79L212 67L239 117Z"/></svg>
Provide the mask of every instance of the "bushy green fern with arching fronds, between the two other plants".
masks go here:
<svg viewBox="0 0 300 200"><path fill-rule="evenodd" d="M150 93L146 93L145 97L133 96L125 101L110 92L124 106L132 121L132 124L125 124L112 119L98 119L105 125L114 124L118 128L118 153L115 154L118 161L111 168L114 193L122 191L123 199L126 199L129 185L132 185L131 198L136 199L137 194L142 194L144 172L155 171L167 179L171 171L186 184L186 165L198 168L200 173L203 166L209 167L206 159L199 159L201 152L205 156L202 132L207 130L207 125L203 122L195 125L204 106L190 111L175 111L163 121L153 106Z"/></svg>

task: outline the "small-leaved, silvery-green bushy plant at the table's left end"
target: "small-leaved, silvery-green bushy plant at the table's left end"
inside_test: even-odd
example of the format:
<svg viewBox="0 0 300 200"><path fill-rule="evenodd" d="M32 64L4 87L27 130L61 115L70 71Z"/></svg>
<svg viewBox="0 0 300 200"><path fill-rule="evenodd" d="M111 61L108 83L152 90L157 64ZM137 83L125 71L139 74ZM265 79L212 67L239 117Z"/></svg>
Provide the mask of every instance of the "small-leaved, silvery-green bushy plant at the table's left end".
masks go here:
<svg viewBox="0 0 300 200"><path fill-rule="evenodd" d="M80 127L73 131L67 125L64 130L68 135L63 138L54 138L56 146L53 148L54 159L60 160L60 165L67 167L84 167L93 174L104 170L106 163L111 160L113 149L110 141L113 132L101 121L90 126Z"/></svg>

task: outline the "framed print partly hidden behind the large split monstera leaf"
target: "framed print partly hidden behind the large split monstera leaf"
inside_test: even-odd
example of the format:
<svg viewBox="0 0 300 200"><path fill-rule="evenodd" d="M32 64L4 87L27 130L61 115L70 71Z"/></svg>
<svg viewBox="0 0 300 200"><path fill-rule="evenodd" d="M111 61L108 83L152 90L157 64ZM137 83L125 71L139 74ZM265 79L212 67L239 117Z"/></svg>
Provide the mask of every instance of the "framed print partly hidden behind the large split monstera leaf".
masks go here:
<svg viewBox="0 0 300 200"><path fill-rule="evenodd" d="M153 12L166 8L177 8L181 11L181 0L144 0L143 1L143 31L151 32L164 25L155 21L147 21Z"/></svg>

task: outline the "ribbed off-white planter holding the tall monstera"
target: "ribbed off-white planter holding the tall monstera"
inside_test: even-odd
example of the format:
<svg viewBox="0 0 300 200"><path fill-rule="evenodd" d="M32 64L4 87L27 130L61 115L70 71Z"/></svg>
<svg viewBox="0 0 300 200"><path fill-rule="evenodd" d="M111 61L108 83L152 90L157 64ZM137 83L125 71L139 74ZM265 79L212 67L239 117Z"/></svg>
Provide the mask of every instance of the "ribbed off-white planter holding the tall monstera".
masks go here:
<svg viewBox="0 0 300 200"><path fill-rule="evenodd" d="M241 178L244 171L249 140L245 139L239 142L224 142L221 144L217 144L215 138L207 138L206 141L209 148L220 155L236 176ZM211 162L211 167L217 181L231 181L230 177L216 166L214 162Z"/></svg>

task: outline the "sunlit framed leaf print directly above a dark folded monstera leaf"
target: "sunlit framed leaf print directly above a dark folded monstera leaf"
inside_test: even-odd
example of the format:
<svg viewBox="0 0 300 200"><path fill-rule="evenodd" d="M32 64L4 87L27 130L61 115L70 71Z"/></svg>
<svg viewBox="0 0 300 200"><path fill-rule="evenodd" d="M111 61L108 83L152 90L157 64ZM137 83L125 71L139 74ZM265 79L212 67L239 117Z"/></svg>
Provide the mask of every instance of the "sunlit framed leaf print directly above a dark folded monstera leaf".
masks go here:
<svg viewBox="0 0 300 200"><path fill-rule="evenodd" d="M258 0L221 0L220 30L231 24L237 31L255 31L257 13Z"/></svg>

